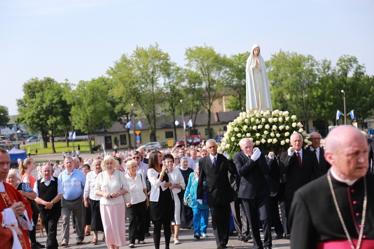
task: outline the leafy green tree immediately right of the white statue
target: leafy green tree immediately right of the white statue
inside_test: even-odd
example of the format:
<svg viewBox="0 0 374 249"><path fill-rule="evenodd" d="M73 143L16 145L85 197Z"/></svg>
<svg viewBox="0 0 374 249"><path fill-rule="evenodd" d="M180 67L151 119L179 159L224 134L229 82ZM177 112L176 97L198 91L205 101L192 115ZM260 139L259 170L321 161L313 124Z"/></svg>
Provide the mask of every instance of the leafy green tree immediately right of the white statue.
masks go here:
<svg viewBox="0 0 374 249"><path fill-rule="evenodd" d="M307 132L308 121L314 114L312 91L317 82L317 66L318 62L311 55L282 50L267 61L274 109L297 115Z"/></svg>

